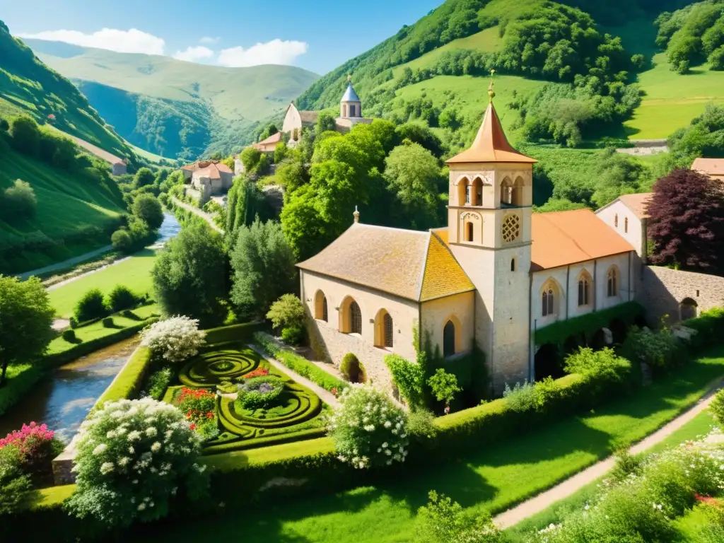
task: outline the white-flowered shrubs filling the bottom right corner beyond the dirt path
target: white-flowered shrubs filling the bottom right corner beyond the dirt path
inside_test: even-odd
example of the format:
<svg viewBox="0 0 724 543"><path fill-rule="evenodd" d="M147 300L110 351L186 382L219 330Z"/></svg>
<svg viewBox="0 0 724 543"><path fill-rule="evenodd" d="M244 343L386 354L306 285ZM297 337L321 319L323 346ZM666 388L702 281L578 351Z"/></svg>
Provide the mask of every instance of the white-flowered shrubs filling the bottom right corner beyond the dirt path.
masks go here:
<svg viewBox="0 0 724 543"><path fill-rule="evenodd" d="M652 455L623 481L609 479L602 487L597 502L531 534L529 542L678 541L673 520L724 489L724 449L690 442Z"/></svg>

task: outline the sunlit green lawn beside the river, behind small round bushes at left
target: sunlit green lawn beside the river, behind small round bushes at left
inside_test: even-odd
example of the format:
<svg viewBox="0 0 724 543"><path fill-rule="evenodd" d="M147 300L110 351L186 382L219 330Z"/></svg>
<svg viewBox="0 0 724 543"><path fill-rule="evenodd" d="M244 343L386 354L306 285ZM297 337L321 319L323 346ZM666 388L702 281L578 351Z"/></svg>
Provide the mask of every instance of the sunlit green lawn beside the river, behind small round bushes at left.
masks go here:
<svg viewBox="0 0 724 543"><path fill-rule="evenodd" d="M56 315L67 319L72 316L75 304L81 296L93 288L100 289L104 294L109 294L116 285L124 285L138 295L151 292L151 269L155 261L156 251L144 249L118 264L94 271L51 290L51 305L55 308Z"/></svg>

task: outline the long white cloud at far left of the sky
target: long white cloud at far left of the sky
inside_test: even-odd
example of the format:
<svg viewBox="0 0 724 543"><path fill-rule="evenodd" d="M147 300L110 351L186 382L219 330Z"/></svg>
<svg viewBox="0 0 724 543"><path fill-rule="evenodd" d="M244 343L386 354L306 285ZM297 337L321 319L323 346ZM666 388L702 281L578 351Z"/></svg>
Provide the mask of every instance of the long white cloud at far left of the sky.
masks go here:
<svg viewBox="0 0 724 543"><path fill-rule="evenodd" d="M97 47L98 49L109 49L119 53L146 53L151 55L164 54L166 44L163 38L137 28L131 28L130 30L102 28L92 34L85 34L78 30L46 30L37 34L20 34L20 37L64 41L77 46Z"/></svg>

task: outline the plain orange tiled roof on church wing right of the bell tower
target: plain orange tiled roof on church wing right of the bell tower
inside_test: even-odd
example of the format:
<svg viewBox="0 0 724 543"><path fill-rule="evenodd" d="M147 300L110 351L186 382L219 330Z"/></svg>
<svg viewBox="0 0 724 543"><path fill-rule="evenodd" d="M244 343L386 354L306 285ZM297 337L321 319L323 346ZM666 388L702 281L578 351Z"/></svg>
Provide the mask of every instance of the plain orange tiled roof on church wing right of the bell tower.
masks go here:
<svg viewBox="0 0 724 543"><path fill-rule="evenodd" d="M589 209L534 213L531 227L531 271L634 250Z"/></svg>

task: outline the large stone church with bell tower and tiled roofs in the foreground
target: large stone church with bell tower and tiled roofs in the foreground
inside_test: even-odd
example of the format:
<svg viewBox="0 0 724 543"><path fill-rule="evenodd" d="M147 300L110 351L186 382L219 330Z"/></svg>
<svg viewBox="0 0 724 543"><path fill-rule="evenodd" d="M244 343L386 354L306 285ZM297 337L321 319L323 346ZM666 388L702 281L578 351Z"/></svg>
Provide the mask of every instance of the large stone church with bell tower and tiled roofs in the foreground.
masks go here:
<svg viewBox="0 0 724 543"><path fill-rule="evenodd" d="M470 148L447 161L447 226L428 232L354 222L300 262L300 292L325 358L354 353L394 392L390 353L429 340L446 361L485 355L492 390L536 376L534 335L633 300L634 246L589 210L533 214L533 164L508 143L494 91ZM548 374L546 374L548 375Z"/></svg>

